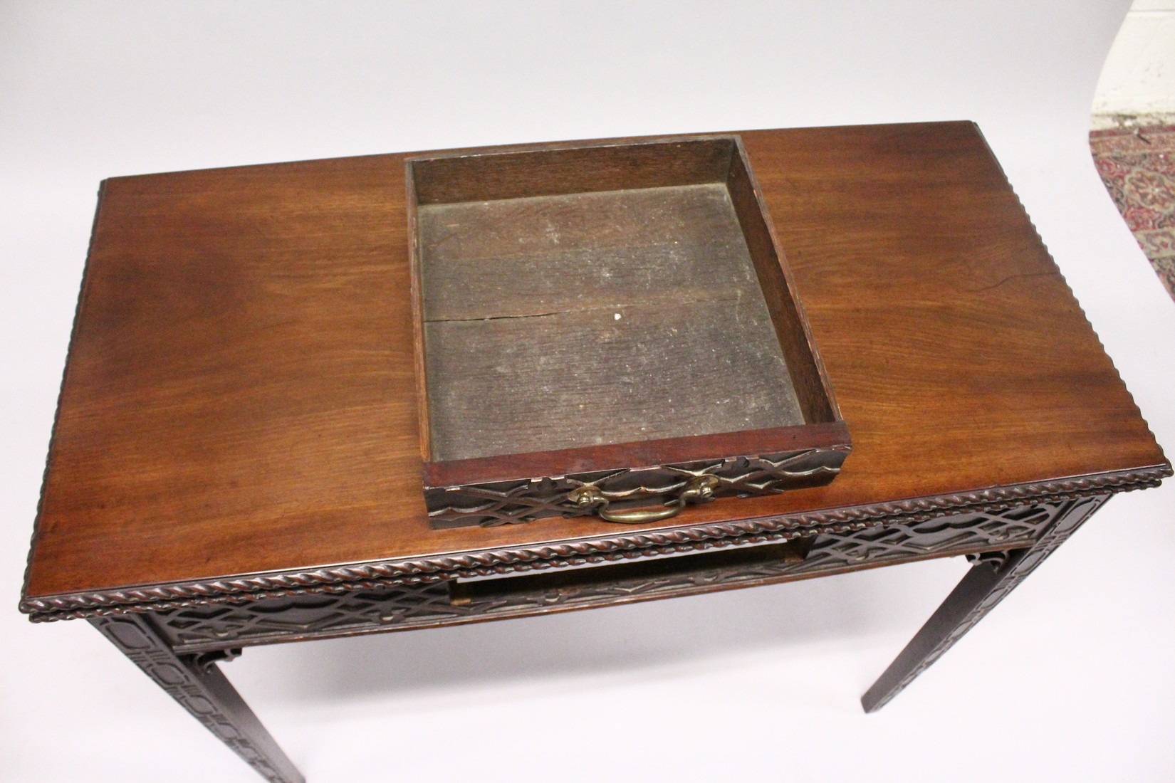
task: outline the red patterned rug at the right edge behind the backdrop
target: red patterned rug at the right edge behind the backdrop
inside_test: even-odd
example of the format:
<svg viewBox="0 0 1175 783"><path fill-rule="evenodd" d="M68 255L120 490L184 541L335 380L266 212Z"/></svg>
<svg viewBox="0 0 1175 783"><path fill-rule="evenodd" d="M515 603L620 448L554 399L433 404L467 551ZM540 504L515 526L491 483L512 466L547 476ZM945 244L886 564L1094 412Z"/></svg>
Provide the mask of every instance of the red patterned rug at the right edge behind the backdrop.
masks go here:
<svg viewBox="0 0 1175 783"><path fill-rule="evenodd" d="M1106 189L1175 299L1175 126L1092 130Z"/></svg>

